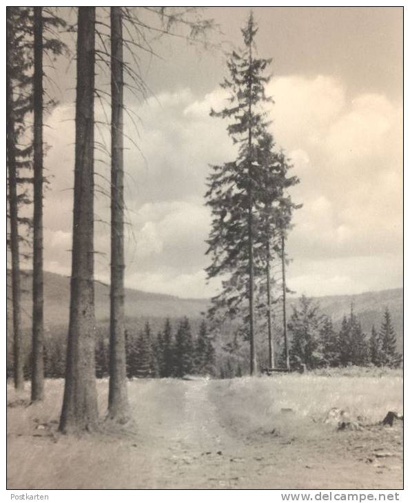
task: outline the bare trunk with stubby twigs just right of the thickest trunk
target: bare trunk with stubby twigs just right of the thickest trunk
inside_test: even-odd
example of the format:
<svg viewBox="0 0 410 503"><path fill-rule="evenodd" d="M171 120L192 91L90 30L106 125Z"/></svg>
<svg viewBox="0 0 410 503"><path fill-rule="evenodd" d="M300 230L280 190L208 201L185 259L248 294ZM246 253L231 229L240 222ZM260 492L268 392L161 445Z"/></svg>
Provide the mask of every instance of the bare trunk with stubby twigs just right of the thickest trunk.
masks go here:
<svg viewBox="0 0 410 503"><path fill-rule="evenodd" d="M128 419L124 322L123 26L111 8L111 288L108 417Z"/></svg>

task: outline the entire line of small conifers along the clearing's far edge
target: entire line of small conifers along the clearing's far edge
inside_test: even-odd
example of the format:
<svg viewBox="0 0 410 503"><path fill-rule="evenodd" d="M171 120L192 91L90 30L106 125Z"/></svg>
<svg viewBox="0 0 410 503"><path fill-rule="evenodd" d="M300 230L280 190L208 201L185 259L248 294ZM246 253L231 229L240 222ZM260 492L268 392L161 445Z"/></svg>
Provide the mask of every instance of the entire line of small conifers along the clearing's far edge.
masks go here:
<svg viewBox="0 0 410 503"><path fill-rule="evenodd" d="M194 320L192 320L194 321ZM161 329L158 326L163 324ZM141 324L140 324L141 325ZM352 308L339 329L331 318L320 313L320 305L311 298L300 298L293 307L288 323L289 355L294 369L305 365L307 369L356 367L397 368L402 355L397 351L396 331L389 309L385 309L380 327L365 333ZM285 367L283 334L278 327L276 367ZM180 378L189 375L215 378L234 378L247 374L247 358L240 357L229 345L215 346L214 338L205 320L147 320L143 328L127 323L125 353L127 378ZM61 327L54 329L44 340L44 376L64 378L66 333ZM258 370L269 367L265 351L265 338L257 345ZM24 375L32 373L30 349L25 358ZM96 378L110 374L110 343L107 325L96 327ZM12 351L8 351L7 377L13 375Z"/></svg>

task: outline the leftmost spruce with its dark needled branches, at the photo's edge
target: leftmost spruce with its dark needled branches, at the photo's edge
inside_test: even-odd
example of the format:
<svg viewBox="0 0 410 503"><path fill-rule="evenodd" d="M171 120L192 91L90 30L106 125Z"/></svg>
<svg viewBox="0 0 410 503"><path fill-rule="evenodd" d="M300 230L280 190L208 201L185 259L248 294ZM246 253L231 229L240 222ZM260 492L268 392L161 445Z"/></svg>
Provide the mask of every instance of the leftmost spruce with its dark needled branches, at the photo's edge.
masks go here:
<svg viewBox="0 0 410 503"><path fill-rule="evenodd" d="M21 144L26 130L25 117L32 110L30 68L31 48L28 41L30 30L30 9L8 7L6 10L6 147L8 167L8 218L10 222L11 282L12 282L12 322L13 322L13 367L14 387L24 388L23 334L21 331L21 225L31 225L31 220L19 214L22 203L30 203L27 189L19 190L19 185L32 182L32 178L22 177L21 168L30 167L32 145Z"/></svg>

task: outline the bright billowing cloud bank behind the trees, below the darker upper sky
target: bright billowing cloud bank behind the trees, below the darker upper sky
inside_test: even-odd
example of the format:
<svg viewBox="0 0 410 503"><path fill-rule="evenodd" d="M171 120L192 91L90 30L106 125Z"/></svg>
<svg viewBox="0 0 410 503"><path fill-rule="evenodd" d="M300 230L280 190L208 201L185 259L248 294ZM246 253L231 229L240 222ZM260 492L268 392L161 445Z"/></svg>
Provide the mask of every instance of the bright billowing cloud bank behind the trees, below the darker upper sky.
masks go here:
<svg viewBox="0 0 410 503"><path fill-rule="evenodd" d="M353 293L377 289L377 284L380 288L398 284L400 106L381 94L349 100L343 83L329 76L278 76L269 84L268 94L276 101L271 125L276 142L285 147L293 172L300 177L292 194L303 208L295 214L296 227L288 243L294 258L289 269L294 289L306 289L308 294ZM136 138L145 156L134 148L125 152L127 219L135 235L127 240L127 282L135 287L181 296L205 296L216 288L216 283L205 286L203 273L210 221L203 194L209 163L228 161L236 152L226 123L209 117L210 107L221 109L224 99L219 89L203 99L185 89L135 105L132 112L143 123L140 137L125 117L127 134ZM54 270L60 267L57 263L70 263L62 249L63 236L71 232L74 150L69 143L74 128L66 119L72 112L57 107L49 121L54 135L50 143L57 146L47 161L54 179L46 194L45 221L61 232L46 243ZM97 113L101 115L101 110ZM97 164L96 170L109 177L107 162ZM102 177L96 180L104 184ZM104 196L96 199L96 215L109 220ZM107 227L96 228L96 244L108 253ZM373 260L358 259L364 256ZM108 265L109 256L101 258L97 276L106 275ZM390 267L391 278L380 278L380 267Z"/></svg>

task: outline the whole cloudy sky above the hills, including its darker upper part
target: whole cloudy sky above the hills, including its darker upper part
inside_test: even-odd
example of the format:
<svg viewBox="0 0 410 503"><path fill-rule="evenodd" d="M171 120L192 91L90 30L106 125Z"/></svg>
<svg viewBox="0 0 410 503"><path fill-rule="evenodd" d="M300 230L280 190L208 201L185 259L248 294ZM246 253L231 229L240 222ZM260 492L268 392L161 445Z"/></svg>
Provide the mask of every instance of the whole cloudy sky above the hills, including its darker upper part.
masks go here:
<svg viewBox="0 0 410 503"><path fill-rule="evenodd" d="M402 10L400 8L256 8L256 43L272 57L271 130L294 163L303 203L289 238L289 287L298 294L356 294L402 284ZM226 50L240 44L245 8L207 8ZM125 152L126 285L183 297L207 297L204 267L209 164L235 156L221 119L222 51L178 39L158 42L163 59L143 59L154 95L127 94ZM45 269L70 274L74 167L74 65L59 61L60 105L48 116ZM103 82L103 75L99 81ZM55 80L55 78L54 78ZM101 84L103 85L103 84ZM106 110L104 110L104 108ZM109 109L96 103L96 116ZM107 139L101 126L97 136ZM110 170L96 153L96 219L109 219L103 192ZM101 187L100 187L101 186ZM96 276L109 279L110 229L96 223Z"/></svg>

